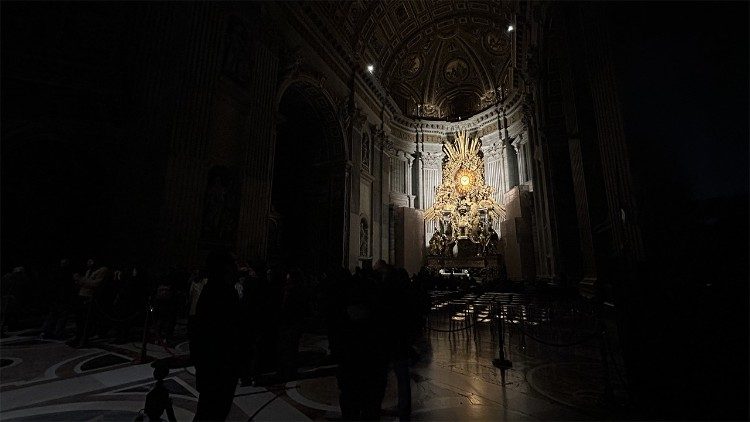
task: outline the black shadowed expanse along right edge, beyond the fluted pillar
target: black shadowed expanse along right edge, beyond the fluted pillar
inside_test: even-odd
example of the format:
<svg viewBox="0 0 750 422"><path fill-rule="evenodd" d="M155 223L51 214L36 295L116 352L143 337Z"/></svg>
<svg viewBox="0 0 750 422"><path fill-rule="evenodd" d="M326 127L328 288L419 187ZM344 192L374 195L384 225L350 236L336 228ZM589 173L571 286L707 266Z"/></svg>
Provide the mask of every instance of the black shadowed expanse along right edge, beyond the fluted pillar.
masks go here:
<svg viewBox="0 0 750 422"><path fill-rule="evenodd" d="M611 4L646 261L619 292L644 415L748 415L748 5Z"/></svg>

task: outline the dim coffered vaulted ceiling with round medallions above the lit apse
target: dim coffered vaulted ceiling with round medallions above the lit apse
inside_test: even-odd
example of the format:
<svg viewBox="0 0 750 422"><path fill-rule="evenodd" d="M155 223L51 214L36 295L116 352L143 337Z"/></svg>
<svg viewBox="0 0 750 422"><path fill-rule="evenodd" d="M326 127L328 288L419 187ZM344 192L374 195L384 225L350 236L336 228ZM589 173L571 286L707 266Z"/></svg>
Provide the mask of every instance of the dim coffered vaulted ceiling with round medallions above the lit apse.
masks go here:
<svg viewBox="0 0 750 422"><path fill-rule="evenodd" d="M515 3L356 0L303 8L339 49L375 67L409 116L465 118L495 104L515 56L507 30Z"/></svg>

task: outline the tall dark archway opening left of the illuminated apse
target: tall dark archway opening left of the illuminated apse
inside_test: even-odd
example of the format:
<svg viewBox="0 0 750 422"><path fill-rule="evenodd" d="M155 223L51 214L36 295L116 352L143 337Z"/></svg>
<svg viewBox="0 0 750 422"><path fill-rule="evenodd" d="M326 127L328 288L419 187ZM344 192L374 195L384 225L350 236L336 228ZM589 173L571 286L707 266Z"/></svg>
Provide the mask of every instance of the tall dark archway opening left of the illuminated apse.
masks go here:
<svg viewBox="0 0 750 422"><path fill-rule="evenodd" d="M269 261L313 272L341 266L348 167L335 103L319 81L298 75L279 87L275 110L271 202L283 227Z"/></svg>

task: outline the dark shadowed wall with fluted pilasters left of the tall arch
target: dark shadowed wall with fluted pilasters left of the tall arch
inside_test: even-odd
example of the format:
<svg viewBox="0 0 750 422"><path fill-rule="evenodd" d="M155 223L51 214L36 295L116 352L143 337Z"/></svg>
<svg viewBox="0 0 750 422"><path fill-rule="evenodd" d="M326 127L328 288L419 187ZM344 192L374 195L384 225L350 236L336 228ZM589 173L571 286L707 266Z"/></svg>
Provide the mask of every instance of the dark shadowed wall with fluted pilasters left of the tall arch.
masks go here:
<svg viewBox="0 0 750 422"><path fill-rule="evenodd" d="M0 5L3 269L262 254L278 85L263 7ZM220 235L205 224L217 168Z"/></svg>

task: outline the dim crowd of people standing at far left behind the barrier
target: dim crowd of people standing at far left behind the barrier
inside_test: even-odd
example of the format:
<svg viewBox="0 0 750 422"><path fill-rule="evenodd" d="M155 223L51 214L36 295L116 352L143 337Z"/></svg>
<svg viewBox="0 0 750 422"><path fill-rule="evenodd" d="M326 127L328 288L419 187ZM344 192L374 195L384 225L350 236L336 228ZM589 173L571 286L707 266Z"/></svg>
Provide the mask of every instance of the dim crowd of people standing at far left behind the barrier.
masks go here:
<svg viewBox="0 0 750 422"><path fill-rule="evenodd" d="M130 339L143 321L153 286L137 266L82 265L64 258L48 268L16 267L3 276L0 327L9 332L40 328L45 339L74 347L94 337ZM71 332L68 324L74 322ZM142 325L142 324L141 324Z"/></svg>

